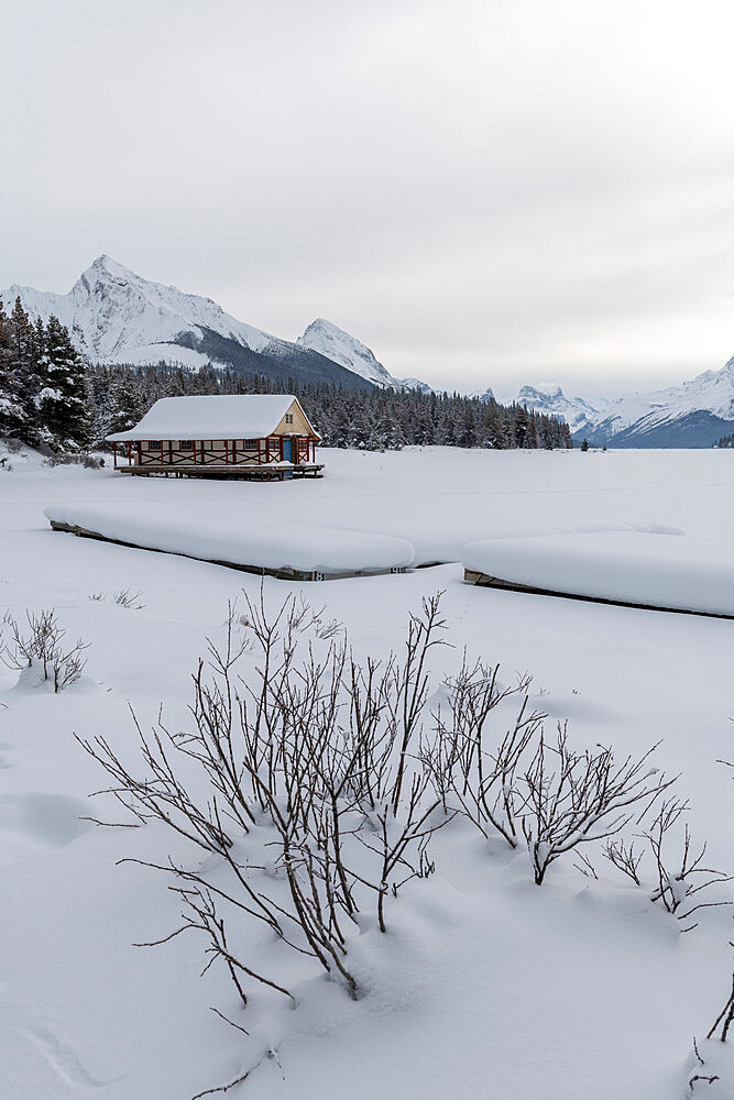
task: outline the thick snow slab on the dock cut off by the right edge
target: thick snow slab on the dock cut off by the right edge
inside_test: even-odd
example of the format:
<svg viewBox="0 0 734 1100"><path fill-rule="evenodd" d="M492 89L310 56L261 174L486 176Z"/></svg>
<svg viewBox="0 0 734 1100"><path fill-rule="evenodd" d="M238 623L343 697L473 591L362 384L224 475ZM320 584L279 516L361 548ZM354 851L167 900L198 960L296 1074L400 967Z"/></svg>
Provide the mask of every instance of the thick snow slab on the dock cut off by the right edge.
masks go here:
<svg viewBox="0 0 734 1100"><path fill-rule="evenodd" d="M734 616L734 541L599 531L464 546L465 569L549 592Z"/></svg>

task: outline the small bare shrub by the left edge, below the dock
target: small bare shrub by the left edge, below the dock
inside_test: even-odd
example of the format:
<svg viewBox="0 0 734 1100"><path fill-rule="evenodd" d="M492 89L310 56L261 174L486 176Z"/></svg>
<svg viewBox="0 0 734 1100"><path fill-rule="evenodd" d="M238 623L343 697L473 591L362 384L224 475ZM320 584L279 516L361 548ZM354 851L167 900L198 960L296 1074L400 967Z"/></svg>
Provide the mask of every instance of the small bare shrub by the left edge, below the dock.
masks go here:
<svg viewBox="0 0 734 1100"><path fill-rule="evenodd" d="M53 683L55 693L76 683L87 664L81 654L89 646L80 638L68 648L65 646L66 631L59 626L53 608L26 612L25 619L28 634L10 613L3 617L11 636L10 644L3 642L0 647L0 658L7 668L20 671L37 663L43 679Z"/></svg>

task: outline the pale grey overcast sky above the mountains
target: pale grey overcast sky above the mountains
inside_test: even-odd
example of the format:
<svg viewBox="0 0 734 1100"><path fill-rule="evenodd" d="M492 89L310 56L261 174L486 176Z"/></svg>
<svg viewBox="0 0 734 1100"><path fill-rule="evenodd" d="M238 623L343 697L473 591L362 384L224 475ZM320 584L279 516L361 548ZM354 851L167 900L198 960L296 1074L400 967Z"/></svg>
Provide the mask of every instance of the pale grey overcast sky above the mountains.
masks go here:
<svg viewBox="0 0 734 1100"><path fill-rule="evenodd" d="M23 0L0 286L105 252L434 385L734 355L734 16L698 0Z"/></svg>

